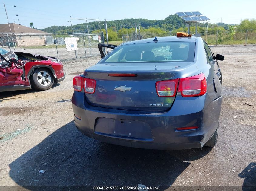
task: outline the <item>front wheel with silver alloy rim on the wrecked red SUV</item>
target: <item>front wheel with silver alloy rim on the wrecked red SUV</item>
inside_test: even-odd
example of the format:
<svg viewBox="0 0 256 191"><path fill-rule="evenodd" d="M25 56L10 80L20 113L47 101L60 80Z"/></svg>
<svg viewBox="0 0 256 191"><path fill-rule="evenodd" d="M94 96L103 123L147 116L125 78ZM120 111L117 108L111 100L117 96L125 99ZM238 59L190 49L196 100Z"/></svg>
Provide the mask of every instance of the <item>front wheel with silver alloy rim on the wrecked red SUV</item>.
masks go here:
<svg viewBox="0 0 256 191"><path fill-rule="evenodd" d="M52 72L47 68L37 68L30 76L30 83L37 90L48 90L53 85Z"/></svg>

